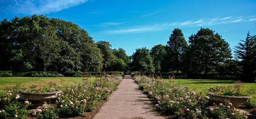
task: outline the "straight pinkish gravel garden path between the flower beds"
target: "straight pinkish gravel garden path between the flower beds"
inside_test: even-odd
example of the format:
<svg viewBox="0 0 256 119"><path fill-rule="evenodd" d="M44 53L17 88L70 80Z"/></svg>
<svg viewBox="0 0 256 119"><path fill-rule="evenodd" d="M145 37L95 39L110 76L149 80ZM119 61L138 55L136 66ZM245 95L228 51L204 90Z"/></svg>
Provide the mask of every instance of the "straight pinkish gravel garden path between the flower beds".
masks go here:
<svg viewBox="0 0 256 119"><path fill-rule="evenodd" d="M131 75L125 75L118 89L99 109L93 119L164 119L152 101L143 94Z"/></svg>

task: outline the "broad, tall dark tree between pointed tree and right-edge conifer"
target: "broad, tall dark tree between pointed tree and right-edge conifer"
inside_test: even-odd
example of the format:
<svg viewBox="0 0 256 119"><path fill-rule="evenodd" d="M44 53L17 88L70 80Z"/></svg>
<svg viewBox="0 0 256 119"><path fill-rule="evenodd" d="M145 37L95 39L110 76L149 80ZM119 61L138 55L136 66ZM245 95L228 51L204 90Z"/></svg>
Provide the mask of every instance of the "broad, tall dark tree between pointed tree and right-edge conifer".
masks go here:
<svg viewBox="0 0 256 119"><path fill-rule="evenodd" d="M231 49L221 35L209 28L201 28L189 37L190 53L193 54L194 65L199 66L198 72L209 72L216 69L219 63L231 59Z"/></svg>

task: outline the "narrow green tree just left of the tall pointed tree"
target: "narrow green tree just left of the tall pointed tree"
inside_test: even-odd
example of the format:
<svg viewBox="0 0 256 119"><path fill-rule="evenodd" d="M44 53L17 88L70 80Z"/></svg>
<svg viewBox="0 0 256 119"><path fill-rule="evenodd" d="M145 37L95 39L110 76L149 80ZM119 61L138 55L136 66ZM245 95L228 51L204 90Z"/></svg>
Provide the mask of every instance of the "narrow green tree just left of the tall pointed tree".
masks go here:
<svg viewBox="0 0 256 119"><path fill-rule="evenodd" d="M150 55L153 58L153 65L155 68L155 72L161 71L161 62L163 61L163 58L165 56L165 46L164 45L155 45L150 50Z"/></svg>

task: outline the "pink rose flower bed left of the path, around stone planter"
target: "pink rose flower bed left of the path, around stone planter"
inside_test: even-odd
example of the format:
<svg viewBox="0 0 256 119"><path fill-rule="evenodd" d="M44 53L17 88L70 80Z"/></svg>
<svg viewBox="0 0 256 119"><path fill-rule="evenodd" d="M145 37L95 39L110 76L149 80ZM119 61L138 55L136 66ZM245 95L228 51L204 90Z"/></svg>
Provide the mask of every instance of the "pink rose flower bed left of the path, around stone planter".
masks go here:
<svg viewBox="0 0 256 119"><path fill-rule="evenodd" d="M24 99L20 90L26 90L20 85L6 88L7 94L0 96L0 118L19 118L33 116L40 119L55 119L58 117L86 116L84 112L92 111L101 100L108 100L108 96L122 80L122 76L107 79L102 87L95 87L95 84L77 83L70 88L58 89L62 92L55 94L58 98L50 99L44 104L43 109L31 112L28 106L31 101ZM32 103L33 104L33 103Z"/></svg>

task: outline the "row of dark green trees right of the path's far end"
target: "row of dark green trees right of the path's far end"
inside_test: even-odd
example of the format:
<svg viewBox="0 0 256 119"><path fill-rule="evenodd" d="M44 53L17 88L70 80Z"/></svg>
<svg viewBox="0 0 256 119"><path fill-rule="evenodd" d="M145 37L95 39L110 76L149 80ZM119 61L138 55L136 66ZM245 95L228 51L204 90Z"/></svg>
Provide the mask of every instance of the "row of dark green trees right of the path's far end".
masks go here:
<svg viewBox="0 0 256 119"><path fill-rule="evenodd" d="M200 28L196 34L185 41L182 30L176 28L169 36L167 45L156 45L150 51L136 49L132 55L133 71L182 72L189 74L208 74L231 76L243 82L251 82L256 77L256 35L248 32L245 40L240 40L234 49L222 36L209 28ZM153 67L151 65L151 60ZM152 70L154 69L154 70ZM241 75L242 74L242 75Z"/></svg>

